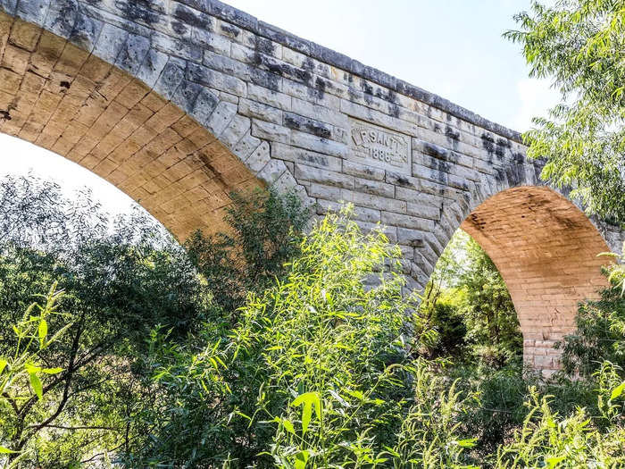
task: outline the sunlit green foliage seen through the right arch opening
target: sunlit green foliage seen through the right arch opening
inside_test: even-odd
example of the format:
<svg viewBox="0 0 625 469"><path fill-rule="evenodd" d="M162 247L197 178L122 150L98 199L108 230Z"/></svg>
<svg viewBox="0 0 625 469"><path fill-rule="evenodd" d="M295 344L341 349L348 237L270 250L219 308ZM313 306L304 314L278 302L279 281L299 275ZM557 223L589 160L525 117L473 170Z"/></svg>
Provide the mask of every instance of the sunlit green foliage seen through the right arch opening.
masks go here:
<svg viewBox="0 0 625 469"><path fill-rule="evenodd" d="M486 252L458 231L438 260L421 312L437 329L435 356L487 366L520 363L522 336L504 279Z"/></svg>

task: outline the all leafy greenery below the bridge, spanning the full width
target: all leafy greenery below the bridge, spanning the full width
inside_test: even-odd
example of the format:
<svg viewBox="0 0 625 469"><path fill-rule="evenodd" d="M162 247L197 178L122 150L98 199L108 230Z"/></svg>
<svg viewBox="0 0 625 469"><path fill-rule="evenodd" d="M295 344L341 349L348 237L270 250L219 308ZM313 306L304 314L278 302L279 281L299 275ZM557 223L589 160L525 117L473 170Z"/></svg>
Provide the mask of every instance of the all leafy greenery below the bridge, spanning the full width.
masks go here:
<svg viewBox="0 0 625 469"><path fill-rule="evenodd" d="M5 466L625 464L619 355L602 339L584 380L522 373L509 359L520 347L503 281L467 239L446 251L419 309L402 295L400 250L348 214L302 236L294 201L246 196L229 241L198 235L187 255L140 214L74 219L70 201L38 187L16 192L31 202L4 198L35 211L11 216L36 236L0 223ZM49 233L37 224L53 220ZM226 275L237 291L216 305L211 289ZM499 358L480 355L496 340Z"/></svg>

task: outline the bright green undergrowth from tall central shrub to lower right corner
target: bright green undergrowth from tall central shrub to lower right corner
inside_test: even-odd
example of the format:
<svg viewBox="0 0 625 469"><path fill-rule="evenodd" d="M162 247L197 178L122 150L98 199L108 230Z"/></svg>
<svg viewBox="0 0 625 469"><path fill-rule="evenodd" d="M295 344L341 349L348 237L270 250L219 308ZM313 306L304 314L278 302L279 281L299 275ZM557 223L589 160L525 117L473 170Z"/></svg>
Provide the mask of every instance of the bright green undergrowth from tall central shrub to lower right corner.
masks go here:
<svg viewBox="0 0 625 469"><path fill-rule="evenodd" d="M173 347L155 332L150 360L165 392L146 418L160 426L136 442L126 464L498 469L625 462L616 444L622 387L615 366L579 384L546 385L518 367L491 370L477 382L450 376L445 362L419 356L428 318L406 315L414 304L401 296L395 270L383 269L399 255L380 231L363 235L330 214L304 237L284 280L248 297L234 328L207 322ZM364 287L371 272L379 283ZM556 398L540 398L532 384ZM580 403L587 411L576 409Z"/></svg>

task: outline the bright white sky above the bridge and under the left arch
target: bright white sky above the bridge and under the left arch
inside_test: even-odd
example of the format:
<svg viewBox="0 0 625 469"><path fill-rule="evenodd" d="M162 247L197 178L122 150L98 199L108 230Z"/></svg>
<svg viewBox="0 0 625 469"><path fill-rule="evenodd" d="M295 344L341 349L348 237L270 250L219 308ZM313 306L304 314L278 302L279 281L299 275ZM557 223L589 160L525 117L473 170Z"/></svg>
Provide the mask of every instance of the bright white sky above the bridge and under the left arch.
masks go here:
<svg viewBox="0 0 625 469"><path fill-rule="evenodd" d="M520 47L501 37L529 0L226 0L259 20L346 54L514 130L557 95L527 78ZM2 172L84 185L114 212L130 199L79 165L0 134Z"/></svg>

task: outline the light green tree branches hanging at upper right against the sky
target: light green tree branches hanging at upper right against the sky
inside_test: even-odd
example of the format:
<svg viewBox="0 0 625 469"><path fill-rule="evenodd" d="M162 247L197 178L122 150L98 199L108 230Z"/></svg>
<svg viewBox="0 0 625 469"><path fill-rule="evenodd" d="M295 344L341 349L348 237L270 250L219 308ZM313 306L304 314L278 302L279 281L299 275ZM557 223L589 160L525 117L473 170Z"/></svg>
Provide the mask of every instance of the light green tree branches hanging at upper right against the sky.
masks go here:
<svg viewBox="0 0 625 469"><path fill-rule="evenodd" d="M546 158L542 177L572 188L588 209L625 222L625 2L533 2L515 20L532 77L549 78L562 101L524 135Z"/></svg>

